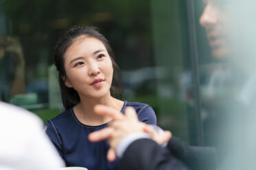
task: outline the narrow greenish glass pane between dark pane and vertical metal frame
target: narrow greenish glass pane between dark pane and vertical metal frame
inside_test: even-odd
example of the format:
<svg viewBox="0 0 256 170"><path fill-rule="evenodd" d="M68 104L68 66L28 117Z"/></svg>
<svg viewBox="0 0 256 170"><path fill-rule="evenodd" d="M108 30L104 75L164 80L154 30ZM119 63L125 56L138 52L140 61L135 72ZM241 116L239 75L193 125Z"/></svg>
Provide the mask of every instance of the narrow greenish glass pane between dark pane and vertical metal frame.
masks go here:
<svg viewBox="0 0 256 170"><path fill-rule="evenodd" d="M154 60L158 66L158 124L187 143L198 145L189 58L186 1L151 1Z"/></svg>

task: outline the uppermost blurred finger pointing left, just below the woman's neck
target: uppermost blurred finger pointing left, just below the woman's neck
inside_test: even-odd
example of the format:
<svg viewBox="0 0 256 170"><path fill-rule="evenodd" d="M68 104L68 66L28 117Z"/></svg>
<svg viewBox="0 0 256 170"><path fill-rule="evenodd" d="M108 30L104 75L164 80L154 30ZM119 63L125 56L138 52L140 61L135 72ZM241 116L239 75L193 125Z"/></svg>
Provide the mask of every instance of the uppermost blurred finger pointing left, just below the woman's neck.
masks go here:
<svg viewBox="0 0 256 170"><path fill-rule="evenodd" d="M118 110L104 105L96 105L94 107L94 112L103 116L112 117L114 120L122 120L125 118L125 116Z"/></svg>

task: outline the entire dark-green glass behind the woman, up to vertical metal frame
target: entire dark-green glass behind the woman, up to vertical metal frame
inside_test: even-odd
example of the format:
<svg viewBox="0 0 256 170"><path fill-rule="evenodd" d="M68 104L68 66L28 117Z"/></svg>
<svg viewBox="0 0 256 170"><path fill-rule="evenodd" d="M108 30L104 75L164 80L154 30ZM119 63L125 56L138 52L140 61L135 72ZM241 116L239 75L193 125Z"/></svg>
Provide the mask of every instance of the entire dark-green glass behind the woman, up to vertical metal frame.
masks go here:
<svg viewBox="0 0 256 170"><path fill-rule="evenodd" d="M1 0L1 99L43 121L62 112L54 45L68 27L94 25L116 53L123 99L149 104L158 125L198 145L187 9L180 0Z"/></svg>

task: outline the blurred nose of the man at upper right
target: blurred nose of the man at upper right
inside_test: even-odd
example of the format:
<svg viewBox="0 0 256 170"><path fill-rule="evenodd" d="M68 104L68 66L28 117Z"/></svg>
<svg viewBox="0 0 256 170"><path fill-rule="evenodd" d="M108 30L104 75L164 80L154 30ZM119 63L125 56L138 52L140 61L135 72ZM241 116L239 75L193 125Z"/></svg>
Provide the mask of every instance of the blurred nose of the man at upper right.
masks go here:
<svg viewBox="0 0 256 170"><path fill-rule="evenodd" d="M204 8L204 12L200 16L200 24L205 27L212 27L217 24L217 11L211 4L207 4Z"/></svg>

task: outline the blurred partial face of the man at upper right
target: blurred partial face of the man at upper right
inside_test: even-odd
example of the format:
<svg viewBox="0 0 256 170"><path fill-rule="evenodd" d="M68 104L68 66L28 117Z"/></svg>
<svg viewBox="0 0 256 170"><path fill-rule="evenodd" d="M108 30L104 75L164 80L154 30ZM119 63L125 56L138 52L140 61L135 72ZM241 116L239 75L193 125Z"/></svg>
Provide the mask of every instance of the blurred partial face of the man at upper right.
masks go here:
<svg viewBox="0 0 256 170"><path fill-rule="evenodd" d="M227 16L224 12L226 0L203 0L204 12L200 17L200 24L205 27L213 58L222 60L228 56Z"/></svg>

